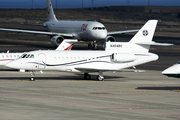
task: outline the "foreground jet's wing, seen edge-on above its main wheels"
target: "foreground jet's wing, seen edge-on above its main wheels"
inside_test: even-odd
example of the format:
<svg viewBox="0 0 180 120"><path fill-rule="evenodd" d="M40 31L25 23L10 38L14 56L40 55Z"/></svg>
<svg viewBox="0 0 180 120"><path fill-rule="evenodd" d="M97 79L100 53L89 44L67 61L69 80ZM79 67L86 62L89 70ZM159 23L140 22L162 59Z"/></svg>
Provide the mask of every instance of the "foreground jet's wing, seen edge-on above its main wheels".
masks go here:
<svg viewBox="0 0 180 120"><path fill-rule="evenodd" d="M96 68L75 68L81 72L107 72L107 71L117 71L117 72L144 72L142 70L128 70L128 69L96 69Z"/></svg>

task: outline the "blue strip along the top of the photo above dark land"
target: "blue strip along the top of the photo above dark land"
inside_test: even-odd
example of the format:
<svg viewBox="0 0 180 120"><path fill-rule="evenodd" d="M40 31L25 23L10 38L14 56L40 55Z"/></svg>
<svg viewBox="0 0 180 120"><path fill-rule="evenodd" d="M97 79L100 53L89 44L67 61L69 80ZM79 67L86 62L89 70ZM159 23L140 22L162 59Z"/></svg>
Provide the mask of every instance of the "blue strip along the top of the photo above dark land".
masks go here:
<svg viewBox="0 0 180 120"><path fill-rule="evenodd" d="M33 2L32 2L33 1ZM92 0L52 0L53 7L56 8L81 8L91 7ZM93 0L93 5L113 6L113 5L140 5L147 6L180 6L180 0ZM46 8L46 0L0 0L0 8Z"/></svg>

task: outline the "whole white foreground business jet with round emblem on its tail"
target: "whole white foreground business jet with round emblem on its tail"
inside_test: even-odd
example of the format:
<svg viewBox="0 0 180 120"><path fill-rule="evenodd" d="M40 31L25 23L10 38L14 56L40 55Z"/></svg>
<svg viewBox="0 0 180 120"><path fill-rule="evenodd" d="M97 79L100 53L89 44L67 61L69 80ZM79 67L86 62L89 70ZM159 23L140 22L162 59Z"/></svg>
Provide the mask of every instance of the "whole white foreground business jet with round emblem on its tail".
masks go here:
<svg viewBox="0 0 180 120"><path fill-rule="evenodd" d="M129 42L107 42L105 51L31 51L6 66L30 70L30 80L34 80L33 71L56 70L81 72L84 79L91 79L89 73L98 72L97 79L101 81L105 71L124 71L157 60L158 55L149 53L150 45L172 45L152 41L156 25L157 20L149 20Z"/></svg>

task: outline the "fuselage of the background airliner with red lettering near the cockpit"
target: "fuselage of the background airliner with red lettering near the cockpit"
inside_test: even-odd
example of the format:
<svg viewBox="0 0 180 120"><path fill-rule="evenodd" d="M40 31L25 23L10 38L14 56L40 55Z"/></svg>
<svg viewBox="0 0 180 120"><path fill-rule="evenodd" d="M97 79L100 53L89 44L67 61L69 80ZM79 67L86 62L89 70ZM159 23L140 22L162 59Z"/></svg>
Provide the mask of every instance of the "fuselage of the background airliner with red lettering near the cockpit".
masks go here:
<svg viewBox="0 0 180 120"><path fill-rule="evenodd" d="M91 21L48 21L44 23L49 31L72 34L75 39L92 41L107 37L105 26Z"/></svg>

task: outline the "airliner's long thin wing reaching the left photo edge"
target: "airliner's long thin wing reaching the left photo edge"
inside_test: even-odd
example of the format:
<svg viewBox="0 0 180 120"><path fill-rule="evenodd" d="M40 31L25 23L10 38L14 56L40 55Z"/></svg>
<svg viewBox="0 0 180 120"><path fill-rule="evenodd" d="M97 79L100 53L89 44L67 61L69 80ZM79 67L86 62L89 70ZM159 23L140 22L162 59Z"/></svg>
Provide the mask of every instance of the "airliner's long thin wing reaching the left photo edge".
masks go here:
<svg viewBox="0 0 180 120"><path fill-rule="evenodd" d="M18 33L41 34L41 35L59 35L59 36L73 37L73 34L66 34L66 33L33 31L33 30L19 30L19 29L7 29L7 28L0 28L0 30L1 31L18 32Z"/></svg>

